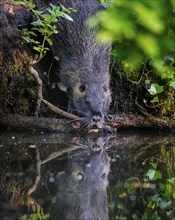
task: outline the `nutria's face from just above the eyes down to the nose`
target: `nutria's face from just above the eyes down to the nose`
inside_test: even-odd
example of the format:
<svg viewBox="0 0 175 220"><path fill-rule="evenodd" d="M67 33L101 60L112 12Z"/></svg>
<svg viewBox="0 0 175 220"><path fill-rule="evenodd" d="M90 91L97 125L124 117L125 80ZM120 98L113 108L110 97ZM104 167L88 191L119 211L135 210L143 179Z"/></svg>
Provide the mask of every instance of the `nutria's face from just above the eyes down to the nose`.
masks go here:
<svg viewBox="0 0 175 220"><path fill-rule="evenodd" d="M111 101L109 79L79 80L72 88L72 104L88 127L102 128Z"/></svg>

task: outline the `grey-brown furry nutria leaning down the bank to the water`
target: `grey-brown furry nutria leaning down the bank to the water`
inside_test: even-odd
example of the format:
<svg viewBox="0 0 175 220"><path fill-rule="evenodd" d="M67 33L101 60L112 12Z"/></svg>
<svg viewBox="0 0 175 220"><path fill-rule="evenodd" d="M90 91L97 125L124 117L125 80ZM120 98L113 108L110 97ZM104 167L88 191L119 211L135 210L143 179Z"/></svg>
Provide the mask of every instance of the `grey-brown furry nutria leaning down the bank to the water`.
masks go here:
<svg viewBox="0 0 175 220"><path fill-rule="evenodd" d="M87 19L103 8L98 0L61 0L59 4L76 10L70 15L73 22L65 18L58 22L52 46L60 58L59 76L69 97L68 109L85 117L88 127L102 128L111 102L111 46L97 43L96 30L88 28Z"/></svg>

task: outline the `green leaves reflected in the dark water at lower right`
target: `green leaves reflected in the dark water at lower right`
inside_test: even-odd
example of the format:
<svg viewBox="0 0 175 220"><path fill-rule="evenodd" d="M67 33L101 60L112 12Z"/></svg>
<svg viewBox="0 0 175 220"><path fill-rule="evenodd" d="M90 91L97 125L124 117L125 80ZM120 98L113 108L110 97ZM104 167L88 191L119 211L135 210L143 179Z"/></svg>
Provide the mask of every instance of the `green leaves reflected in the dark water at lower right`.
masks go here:
<svg viewBox="0 0 175 220"><path fill-rule="evenodd" d="M164 149L165 150L165 149ZM163 151L164 151L163 150ZM159 159L142 166L145 175L116 182L112 189L113 199L109 209L117 208L116 217L113 219L173 219L175 214L175 177L174 169L167 158L162 154L164 162ZM169 170L171 167L171 170ZM118 198L116 198L118 196ZM116 206L116 207L115 207ZM132 208L131 208L132 207Z"/></svg>

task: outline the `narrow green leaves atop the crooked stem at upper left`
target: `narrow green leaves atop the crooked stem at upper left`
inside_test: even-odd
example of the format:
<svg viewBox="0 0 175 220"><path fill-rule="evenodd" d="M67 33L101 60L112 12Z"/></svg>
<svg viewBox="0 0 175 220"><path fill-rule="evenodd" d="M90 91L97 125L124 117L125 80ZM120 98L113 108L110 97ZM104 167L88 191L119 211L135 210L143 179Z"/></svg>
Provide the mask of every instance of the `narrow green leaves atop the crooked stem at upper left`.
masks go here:
<svg viewBox="0 0 175 220"><path fill-rule="evenodd" d="M53 34L57 34L56 23L59 22L59 18L65 18L69 21L73 21L70 17L70 13L74 11L72 8L65 8L64 6L56 6L50 4L50 7L46 8L46 12L35 10L36 5L29 1L15 2L16 4L25 4L29 10L32 11L34 16L36 17L36 21L31 23L31 30L23 29L21 33L21 37L25 42L32 43L33 49L39 53L39 58L37 62L39 62L43 56L45 56L46 52L49 48L46 46L46 43L52 45L52 39L50 38ZM38 35L40 34L43 37L42 42L38 39Z"/></svg>

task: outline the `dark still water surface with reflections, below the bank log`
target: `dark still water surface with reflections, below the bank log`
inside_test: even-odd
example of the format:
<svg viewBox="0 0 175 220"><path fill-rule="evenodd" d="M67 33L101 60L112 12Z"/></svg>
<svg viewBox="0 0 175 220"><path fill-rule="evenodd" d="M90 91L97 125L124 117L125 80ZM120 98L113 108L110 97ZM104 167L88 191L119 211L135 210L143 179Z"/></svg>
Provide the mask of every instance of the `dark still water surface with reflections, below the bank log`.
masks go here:
<svg viewBox="0 0 175 220"><path fill-rule="evenodd" d="M175 135L0 134L0 219L175 219Z"/></svg>

